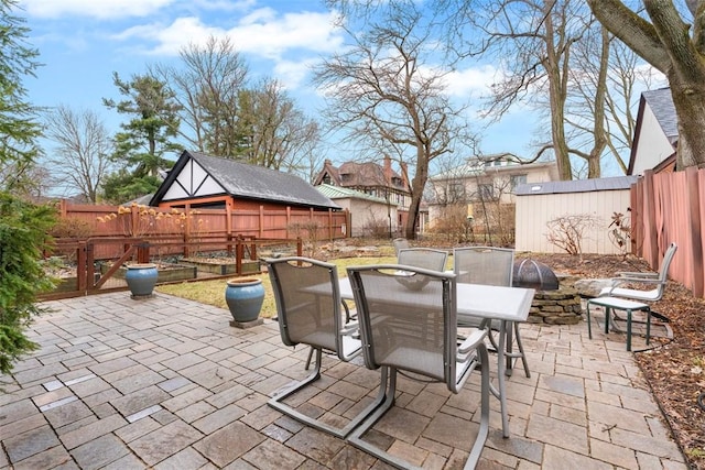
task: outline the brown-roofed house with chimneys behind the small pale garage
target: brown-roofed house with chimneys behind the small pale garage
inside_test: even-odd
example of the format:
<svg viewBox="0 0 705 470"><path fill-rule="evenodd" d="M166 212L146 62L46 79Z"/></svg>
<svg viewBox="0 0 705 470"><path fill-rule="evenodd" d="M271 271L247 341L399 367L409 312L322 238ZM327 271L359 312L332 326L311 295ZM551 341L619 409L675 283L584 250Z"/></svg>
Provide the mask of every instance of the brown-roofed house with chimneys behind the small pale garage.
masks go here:
<svg viewBox="0 0 705 470"><path fill-rule="evenodd" d="M401 174L392 170L392 162L389 156L384 156L383 165L373 162L346 162L336 167L329 160L326 160L323 170L314 179L314 186L325 184L354 189L395 205L397 220L393 226L401 230L409 218L411 185L409 184L405 164L401 164L400 172ZM355 217L355 214L350 214ZM419 215L419 220L416 232L423 232L426 220L423 209L422 214Z"/></svg>

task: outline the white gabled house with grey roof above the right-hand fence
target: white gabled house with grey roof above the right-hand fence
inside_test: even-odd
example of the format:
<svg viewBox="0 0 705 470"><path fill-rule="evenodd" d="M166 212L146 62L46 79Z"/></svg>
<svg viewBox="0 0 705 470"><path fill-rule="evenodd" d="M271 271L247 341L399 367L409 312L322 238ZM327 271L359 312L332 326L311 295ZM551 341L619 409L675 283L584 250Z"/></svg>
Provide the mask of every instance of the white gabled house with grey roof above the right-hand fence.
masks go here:
<svg viewBox="0 0 705 470"><path fill-rule="evenodd" d="M671 89L642 92L627 174L642 175L646 170L673 172L677 140L677 116Z"/></svg>

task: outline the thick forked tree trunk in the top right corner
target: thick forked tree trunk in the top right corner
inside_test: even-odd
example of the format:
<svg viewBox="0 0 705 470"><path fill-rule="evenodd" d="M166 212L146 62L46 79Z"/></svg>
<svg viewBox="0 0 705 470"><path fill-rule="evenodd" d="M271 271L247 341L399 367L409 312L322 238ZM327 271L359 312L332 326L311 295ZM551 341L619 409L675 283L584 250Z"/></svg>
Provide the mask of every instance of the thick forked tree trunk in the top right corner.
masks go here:
<svg viewBox="0 0 705 470"><path fill-rule="evenodd" d="M676 167L705 167L705 0L686 1L693 24L669 1L642 1L651 22L619 0L587 3L607 30L668 77L679 117Z"/></svg>

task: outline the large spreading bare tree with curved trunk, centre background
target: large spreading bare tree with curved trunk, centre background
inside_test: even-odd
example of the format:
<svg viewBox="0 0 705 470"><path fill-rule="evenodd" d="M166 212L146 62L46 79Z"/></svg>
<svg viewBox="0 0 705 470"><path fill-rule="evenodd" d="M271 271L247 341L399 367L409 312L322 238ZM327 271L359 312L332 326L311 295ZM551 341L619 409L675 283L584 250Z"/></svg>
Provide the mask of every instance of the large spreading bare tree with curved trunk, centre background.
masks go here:
<svg viewBox="0 0 705 470"><path fill-rule="evenodd" d="M408 239L415 237L430 162L452 152L452 139L463 141L467 129L459 125L463 109L454 109L444 94L446 72L431 66L430 54L437 51L420 22L417 11L395 10L384 24L371 23L368 33L350 33L355 44L315 72L335 129L378 155L411 155Z"/></svg>

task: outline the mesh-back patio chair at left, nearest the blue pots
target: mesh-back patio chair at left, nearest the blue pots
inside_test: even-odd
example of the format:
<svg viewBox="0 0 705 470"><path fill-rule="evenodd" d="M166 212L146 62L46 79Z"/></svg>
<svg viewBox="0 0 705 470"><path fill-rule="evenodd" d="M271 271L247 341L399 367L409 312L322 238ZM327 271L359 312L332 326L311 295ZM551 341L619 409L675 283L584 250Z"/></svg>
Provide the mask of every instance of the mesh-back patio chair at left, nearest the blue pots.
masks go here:
<svg viewBox="0 0 705 470"><path fill-rule="evenodd" d="M284 398L321 378L323 350L334 352L346 362L360 353L361 342L354 337L358 330L357 324L343 321L336 266L300 256L268 259L265 263L274 292L282 341L293 347L308 345L311 353L316 352L314 371L304 380L278 391L269 405L304 424L344 438L382 403L382 397L344 427L332 426L283 403Z"/></svg>

